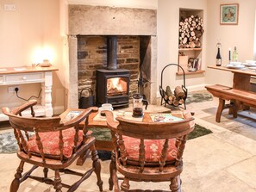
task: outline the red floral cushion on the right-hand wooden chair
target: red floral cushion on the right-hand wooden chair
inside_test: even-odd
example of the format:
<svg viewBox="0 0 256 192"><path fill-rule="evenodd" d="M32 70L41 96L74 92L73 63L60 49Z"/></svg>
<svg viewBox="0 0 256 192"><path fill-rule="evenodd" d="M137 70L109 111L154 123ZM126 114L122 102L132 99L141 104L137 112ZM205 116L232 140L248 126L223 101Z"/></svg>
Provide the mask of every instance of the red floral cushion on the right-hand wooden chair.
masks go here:
<svg viewBox="0 0 256 192"><path fill-rule="evenodd" d="M128 136L123 136L124 145L126 146L127 159L132 161L139 160L139 147L140 139L130 138ZM145 161L159 162L160 155L165 144L165 139L145 139ZM167 152L166 161L174 161L177 157L178 149L175 146L175 139L169 139L169 147Z"/></svg>

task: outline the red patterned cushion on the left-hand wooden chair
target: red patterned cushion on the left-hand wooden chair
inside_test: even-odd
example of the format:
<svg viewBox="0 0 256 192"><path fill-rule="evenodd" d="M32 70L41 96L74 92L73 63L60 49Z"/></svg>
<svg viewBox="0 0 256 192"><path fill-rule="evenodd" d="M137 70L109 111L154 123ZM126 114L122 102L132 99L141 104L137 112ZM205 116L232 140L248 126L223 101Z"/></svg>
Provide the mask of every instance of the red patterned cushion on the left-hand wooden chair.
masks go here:
<svg viewBox="0 0 256 192"><path fill-rule="evenodd" d="M72 156L72 149L74 146L74 136L75 136L75 129L68 128L62 131L63 135L63 155L65 158L70 158ZM43 152L47 155L56 156L57 158L60 155L59 152L59 131L56 132L46 132L46 133L39 133L41 138L41 143L43 145ZM83 141L83 131L78 131L78 146ZM39 149L36 144L35 135L28 139L28 151L39 154Z"/></svg>

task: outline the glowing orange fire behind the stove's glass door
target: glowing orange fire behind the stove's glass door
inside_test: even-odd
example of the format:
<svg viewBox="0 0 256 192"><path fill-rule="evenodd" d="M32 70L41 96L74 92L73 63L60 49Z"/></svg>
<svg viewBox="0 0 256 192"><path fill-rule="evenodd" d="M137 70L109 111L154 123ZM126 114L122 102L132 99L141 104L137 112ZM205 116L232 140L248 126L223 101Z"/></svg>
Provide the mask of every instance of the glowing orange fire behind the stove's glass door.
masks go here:
<svg viewBox="0 0 256 192"><path fill-rule="evenodd" d="M109 78L107 81L107 94L111 96L126 94L127 82L122 77Z"/></svg>

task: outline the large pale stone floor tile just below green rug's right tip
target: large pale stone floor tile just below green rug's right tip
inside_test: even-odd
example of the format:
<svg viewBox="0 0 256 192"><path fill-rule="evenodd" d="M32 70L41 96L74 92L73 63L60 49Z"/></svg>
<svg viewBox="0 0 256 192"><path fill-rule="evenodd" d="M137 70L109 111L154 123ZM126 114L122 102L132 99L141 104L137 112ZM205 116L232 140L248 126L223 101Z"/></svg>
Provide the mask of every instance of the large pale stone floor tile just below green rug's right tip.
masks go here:
<svg viewBox="0 0 256 192"><path fill-rule="evenodd" d="M187 141L184 151L184 172L194 179L222 170L253 155L208 134Z"/></svg>

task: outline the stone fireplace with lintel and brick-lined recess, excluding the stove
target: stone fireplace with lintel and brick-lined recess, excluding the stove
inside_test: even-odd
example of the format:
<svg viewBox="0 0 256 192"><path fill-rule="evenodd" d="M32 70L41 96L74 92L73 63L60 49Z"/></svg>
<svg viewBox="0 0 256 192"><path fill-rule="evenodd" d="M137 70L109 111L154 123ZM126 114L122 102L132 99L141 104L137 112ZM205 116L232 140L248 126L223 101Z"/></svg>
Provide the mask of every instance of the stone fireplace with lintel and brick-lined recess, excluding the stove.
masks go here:
<svg viewBox="0 0 256 192"><path fill-rule="evenodd" d="M117 68L131 73L130 96L140 91L155 103L156 31L155 9L69 5L67 107L78 108L78 93L84 87L96 95L96 72L107 64L108 35L117 36Z"/></svg>

